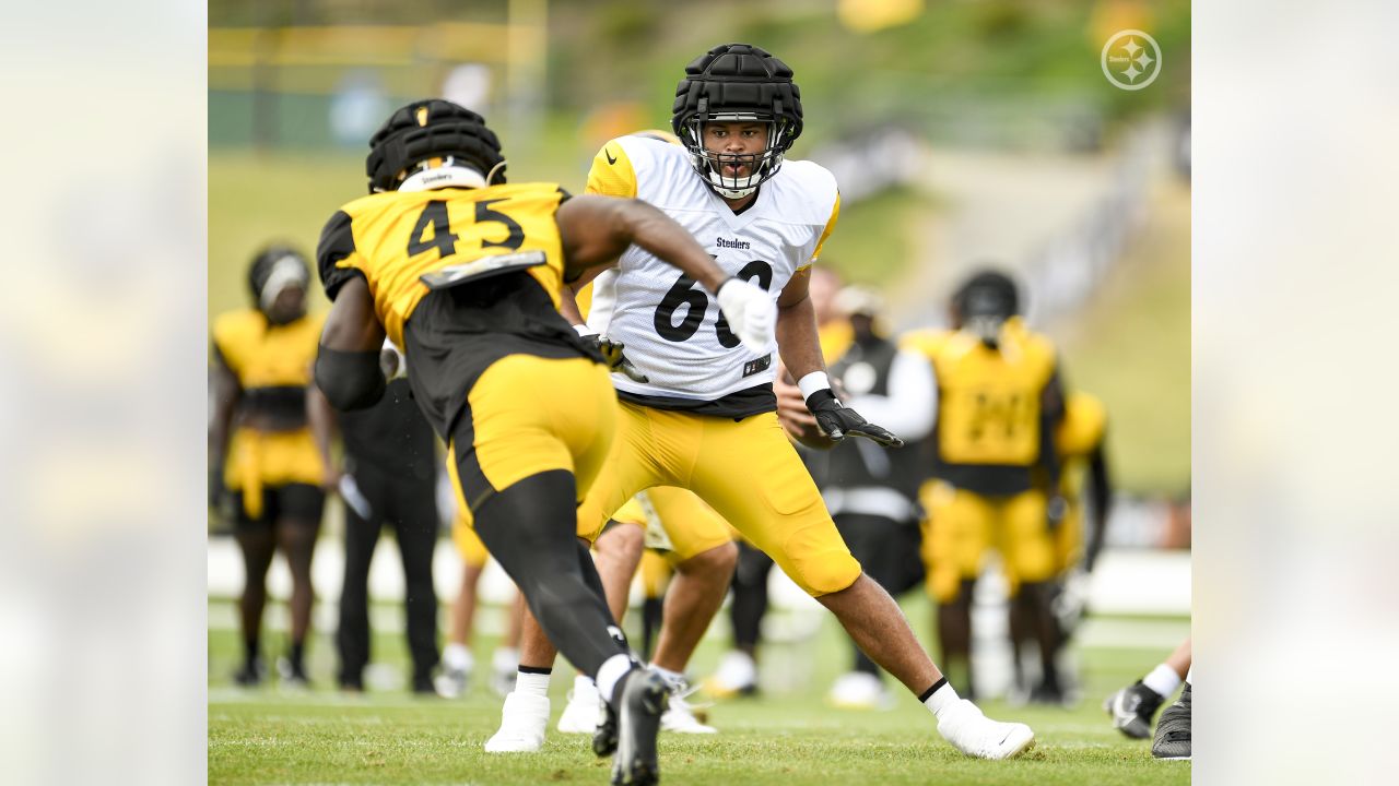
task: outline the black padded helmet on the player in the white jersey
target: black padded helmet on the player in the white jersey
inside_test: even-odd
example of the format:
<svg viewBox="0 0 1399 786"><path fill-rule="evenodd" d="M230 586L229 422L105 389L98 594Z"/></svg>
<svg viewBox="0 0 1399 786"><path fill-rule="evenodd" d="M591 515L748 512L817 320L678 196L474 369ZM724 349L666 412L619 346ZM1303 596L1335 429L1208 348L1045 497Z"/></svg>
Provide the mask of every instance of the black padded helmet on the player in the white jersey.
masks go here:
<svg viewBox="0 0 1399 786"><path fill-rule="evenodd" d="M708 122L757 122L768 126L768 143L760 154L734 157L709 152L701 130ZM670 127L690 151L690 165L715 192L741 199L778 173L782 157L802 136L802 91L792 69L747 43L726 43L705 52L688 66L676 85ZM750 164L746 176L723 176L725 164Z"/></svg>

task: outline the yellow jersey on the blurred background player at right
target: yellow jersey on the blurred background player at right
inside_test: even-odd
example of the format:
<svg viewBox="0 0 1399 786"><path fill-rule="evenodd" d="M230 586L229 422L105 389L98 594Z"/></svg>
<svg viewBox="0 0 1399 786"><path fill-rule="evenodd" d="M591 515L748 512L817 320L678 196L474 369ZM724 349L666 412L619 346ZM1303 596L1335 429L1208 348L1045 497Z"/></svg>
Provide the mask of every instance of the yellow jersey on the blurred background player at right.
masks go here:
<svg viewBox="0 0 1399 786"><path fill-rule="evenodd" d="M1045 389L1058 383L1053 344L1018 319L1007 322L997 348L951 330L916 331L902 344L926 355L937 376L935 473L986 494L1028 488L1041 457Z"/></svg>

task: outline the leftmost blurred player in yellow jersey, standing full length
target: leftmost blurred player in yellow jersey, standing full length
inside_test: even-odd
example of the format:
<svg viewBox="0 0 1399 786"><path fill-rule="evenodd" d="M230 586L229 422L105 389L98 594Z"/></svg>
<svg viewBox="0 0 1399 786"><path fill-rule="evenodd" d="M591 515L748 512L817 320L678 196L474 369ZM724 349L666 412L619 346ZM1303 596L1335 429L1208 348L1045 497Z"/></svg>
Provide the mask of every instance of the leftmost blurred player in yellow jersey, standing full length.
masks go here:
<svg viewBox="0 0 1399 786"><path fill-rule="evenodd" d="M210 502L235 523L243 555L238 601L243 635L239 685L256 685L267 569L281 548L291 571L291 642L278 659L283 684L306 685L311 558L326 491L334 414L312 383L323 315L306 313L311 269L290 246L269 246L248 270L253 306L214 320L214 413L208 429Z"/></svg>

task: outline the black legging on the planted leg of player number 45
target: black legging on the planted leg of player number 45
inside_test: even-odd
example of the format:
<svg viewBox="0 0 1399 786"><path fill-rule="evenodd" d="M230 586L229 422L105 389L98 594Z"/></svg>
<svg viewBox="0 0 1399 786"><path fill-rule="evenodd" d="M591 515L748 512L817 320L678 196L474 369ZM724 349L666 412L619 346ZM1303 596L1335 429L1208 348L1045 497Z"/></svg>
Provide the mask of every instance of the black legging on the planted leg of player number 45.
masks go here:
<svg viewBox="0 0 1399 786"><path fill-rule="evenodd" d="M574 476L530 476L476 509L476 533L515 580L548 641L575 669L595 677L604 660L628 655L616 629L602 579L578 543Z"/></svg>

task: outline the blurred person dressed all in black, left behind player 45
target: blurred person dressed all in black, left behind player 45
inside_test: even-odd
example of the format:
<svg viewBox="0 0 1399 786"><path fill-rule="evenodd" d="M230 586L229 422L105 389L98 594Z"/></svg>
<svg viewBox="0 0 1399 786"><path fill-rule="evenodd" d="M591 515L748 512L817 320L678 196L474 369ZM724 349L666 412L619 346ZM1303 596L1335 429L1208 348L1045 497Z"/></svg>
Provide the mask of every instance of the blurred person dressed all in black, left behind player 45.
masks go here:
<svg viewBox="0 0 1399 786"><path fill-rule="evenodd" d="M432 586L432 551L436 548L436 439L432 427L413 403L403 357L386 345L381 354L385 378L378 404L340 415L344 439L346 571L340 593L340 687L364 689L364 669L371 659L369 564L379 533L390 526L403 559L411 687L429 694L436 652L436 590Z"/></svg>

